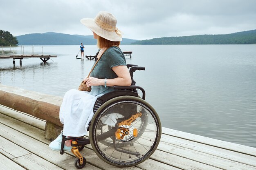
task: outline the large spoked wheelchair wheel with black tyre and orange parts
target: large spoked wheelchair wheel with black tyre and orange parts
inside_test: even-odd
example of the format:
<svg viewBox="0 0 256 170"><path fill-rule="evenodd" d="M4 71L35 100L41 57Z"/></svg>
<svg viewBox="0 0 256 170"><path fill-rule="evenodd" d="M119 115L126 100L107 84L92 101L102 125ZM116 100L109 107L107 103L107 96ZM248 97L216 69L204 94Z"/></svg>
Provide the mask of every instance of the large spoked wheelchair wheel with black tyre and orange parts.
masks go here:
<svg viewBox="0 0 256 170"><path fill-rule="evenodd" d="M110 99L97 110L91 122L92 148L113 166L135 166L145 161L153 154L161 137L156 111L139 97Z"/></svg>

